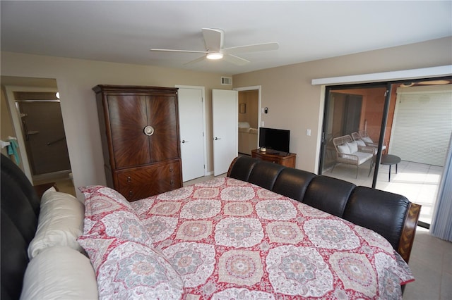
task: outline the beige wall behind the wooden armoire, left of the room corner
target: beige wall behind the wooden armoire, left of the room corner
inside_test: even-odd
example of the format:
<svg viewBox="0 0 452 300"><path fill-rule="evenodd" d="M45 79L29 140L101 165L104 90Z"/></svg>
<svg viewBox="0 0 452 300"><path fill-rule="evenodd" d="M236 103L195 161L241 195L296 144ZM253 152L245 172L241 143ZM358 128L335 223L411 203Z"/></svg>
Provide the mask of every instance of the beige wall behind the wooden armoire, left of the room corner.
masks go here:
<svg viewBox="0 0 452 300"><path fill-rule="evenodd" d="M99 121L92 90L95 85L203 86L206 88L208 112L208 170L213 170L212 140L209 139L212 127L209 113L212 109L211 90L225 89L220 85L222 74L1 52L1 75L57 80L76 187L105 185Z"/></svg>

